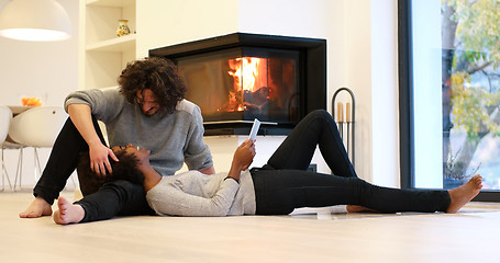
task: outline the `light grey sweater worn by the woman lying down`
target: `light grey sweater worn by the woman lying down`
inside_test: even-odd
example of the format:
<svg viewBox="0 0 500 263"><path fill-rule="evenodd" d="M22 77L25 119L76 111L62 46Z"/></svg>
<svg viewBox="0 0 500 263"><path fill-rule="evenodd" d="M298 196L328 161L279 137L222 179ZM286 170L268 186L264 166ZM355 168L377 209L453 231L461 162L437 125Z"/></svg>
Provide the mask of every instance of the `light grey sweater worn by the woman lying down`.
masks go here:
<svg viewBox="0 0 500 263"><path fill-rule="evenodd" d="M146 194L147 203L160 216L255 215L255 191L248 170L240 184L227 173L207 175L188 171L164 176Z"/></svg>

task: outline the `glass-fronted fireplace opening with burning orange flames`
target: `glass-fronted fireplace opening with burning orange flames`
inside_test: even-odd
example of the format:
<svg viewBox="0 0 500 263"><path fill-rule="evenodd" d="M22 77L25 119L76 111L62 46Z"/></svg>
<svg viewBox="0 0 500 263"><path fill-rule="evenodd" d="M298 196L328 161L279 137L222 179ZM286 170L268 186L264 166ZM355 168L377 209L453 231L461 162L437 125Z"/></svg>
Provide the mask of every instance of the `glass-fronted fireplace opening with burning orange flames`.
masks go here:
<svg viewBox="0 0 500 263"><path fill-rule="evenodd" d="M299 121L298 52L233 48L184 57L177 64L187 98L202 108L205 124Z"/></svg>

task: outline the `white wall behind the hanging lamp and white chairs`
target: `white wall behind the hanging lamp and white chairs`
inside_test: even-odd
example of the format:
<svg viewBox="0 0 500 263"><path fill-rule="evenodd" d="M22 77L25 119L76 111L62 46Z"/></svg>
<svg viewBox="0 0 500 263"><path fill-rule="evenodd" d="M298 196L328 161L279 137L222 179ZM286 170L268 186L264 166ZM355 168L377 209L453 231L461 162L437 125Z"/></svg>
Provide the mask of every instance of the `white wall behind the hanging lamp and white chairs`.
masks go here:
<svg viewBox="0 0 500 263"><path fill-rule="evenodd" d="M22 42L0 37L0 104L21 105L20 96L45 96L44 105L62 106L65 96L78 89L78 1L57 0L68 12L73 35L62 42ZM9 0L0 0L3 10ZM45 165L49 149L41 149ZM23 181L33 185L33 150L24 151ZM8 171L13 179L18 152L5 150Z"/></svg>

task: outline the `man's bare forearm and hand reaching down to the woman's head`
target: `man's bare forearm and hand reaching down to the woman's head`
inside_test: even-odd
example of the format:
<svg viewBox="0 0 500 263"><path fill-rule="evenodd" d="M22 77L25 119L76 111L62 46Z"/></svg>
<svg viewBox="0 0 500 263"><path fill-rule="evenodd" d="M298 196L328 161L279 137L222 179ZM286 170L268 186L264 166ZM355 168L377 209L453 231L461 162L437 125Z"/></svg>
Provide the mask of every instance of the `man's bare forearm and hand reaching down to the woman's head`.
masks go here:
<svg viewBox="0 0 500 263"><path fill-rule="evenodd" d="M102 145L92 123L90 106L87 104L68 105L69 118L89 145L90 169L97 174L105 174L105 169L111 172L111 164L108 156L118 161L113 151Z"/></svg>

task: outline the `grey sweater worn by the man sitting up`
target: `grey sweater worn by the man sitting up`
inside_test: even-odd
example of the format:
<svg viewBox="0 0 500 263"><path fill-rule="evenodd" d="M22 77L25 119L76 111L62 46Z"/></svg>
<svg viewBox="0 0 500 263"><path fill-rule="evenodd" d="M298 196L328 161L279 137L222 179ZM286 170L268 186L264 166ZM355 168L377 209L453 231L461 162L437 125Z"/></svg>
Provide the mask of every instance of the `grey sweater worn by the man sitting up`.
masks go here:
<svg viewBox="0 0 500 263"><path fill-rule="evenodd" d="M66 98L69 104L87 104L92 115L105 124L110 147L129 144L151 150L151 165L162 175L171 175L186 162L189 170L213 165L203 142L200 107L184 100L173 114L148 117L138 105L129 103L119 88L77 91Z"/></svg>

